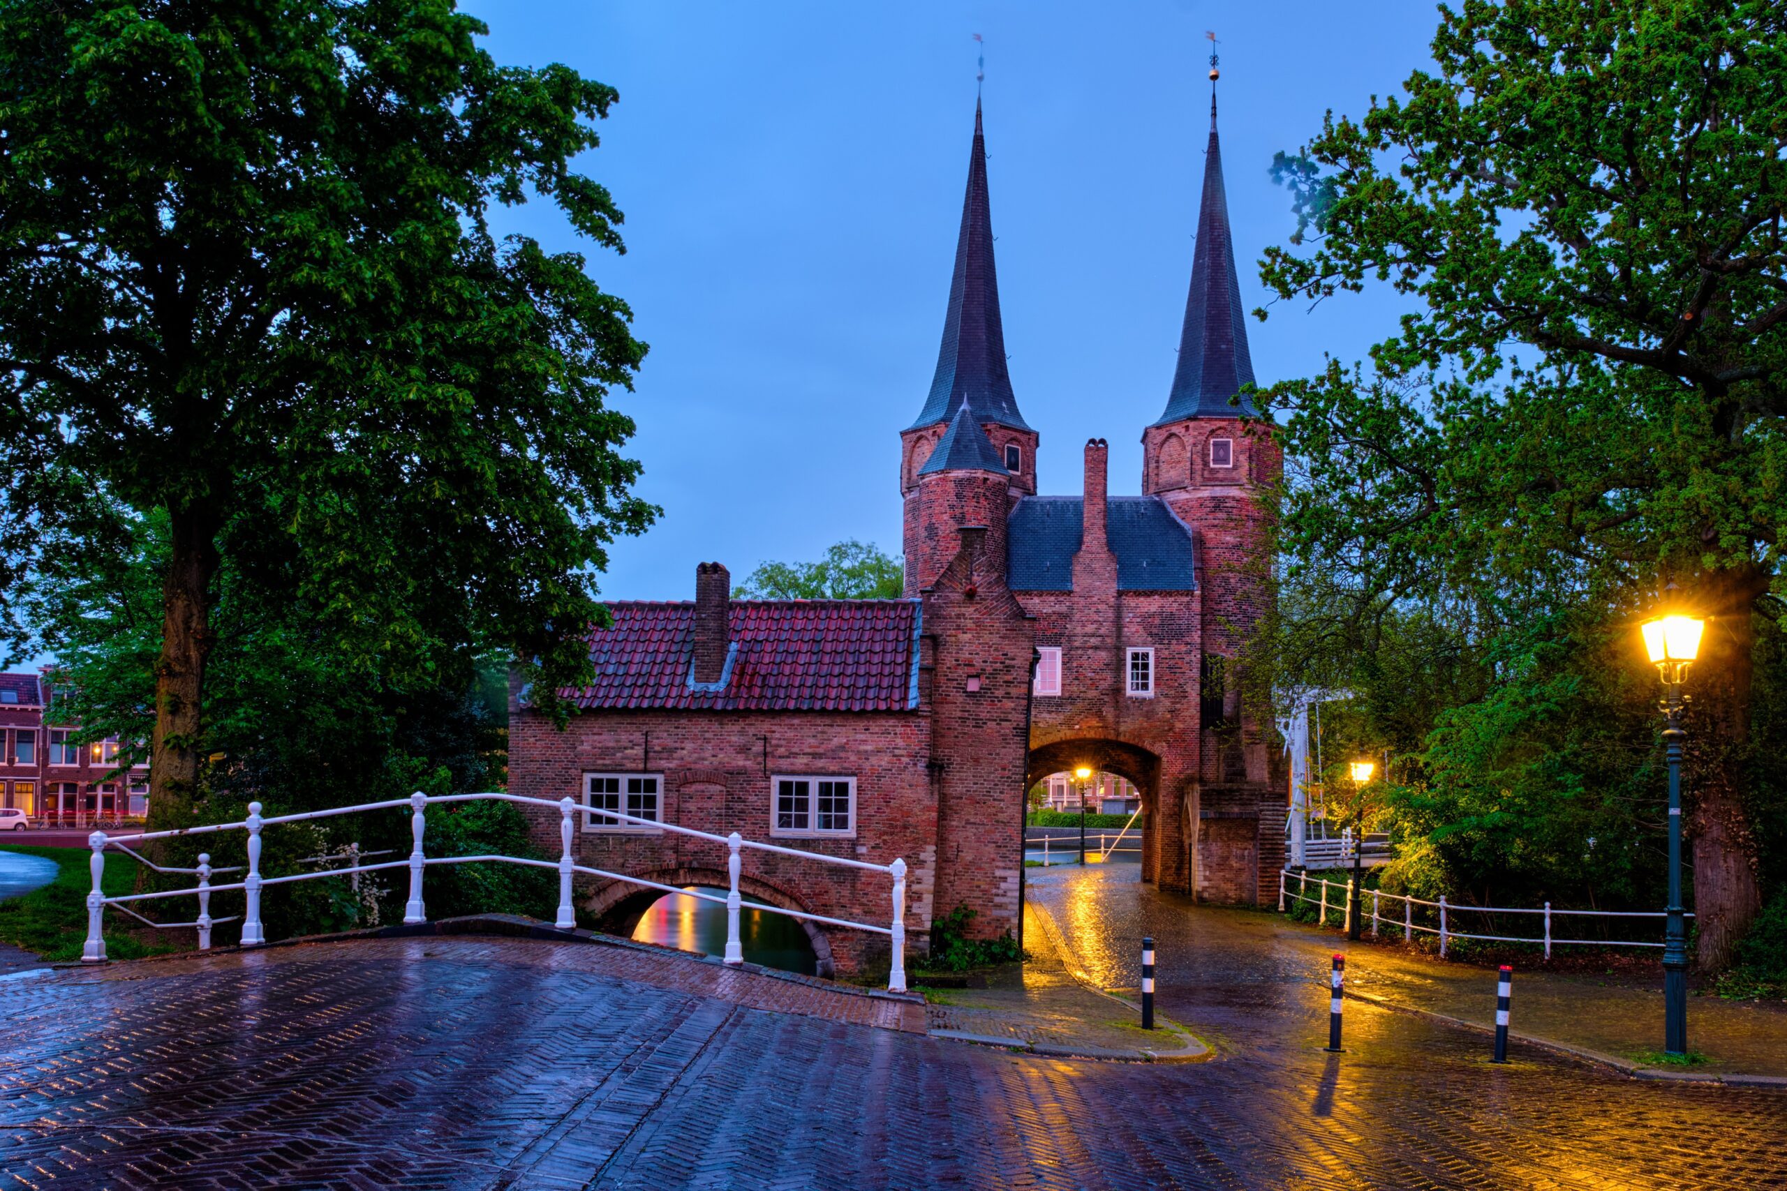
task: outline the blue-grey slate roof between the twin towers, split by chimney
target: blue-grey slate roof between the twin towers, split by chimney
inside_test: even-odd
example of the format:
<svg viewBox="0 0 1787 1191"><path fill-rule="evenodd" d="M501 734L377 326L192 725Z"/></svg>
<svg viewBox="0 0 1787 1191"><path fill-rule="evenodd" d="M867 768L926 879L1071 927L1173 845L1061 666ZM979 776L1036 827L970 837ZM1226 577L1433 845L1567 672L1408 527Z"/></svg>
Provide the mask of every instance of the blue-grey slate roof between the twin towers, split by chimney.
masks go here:
<svg viewBox="0 0 1787 1191"><path fill-rule="evenodd" d="M1024 496L1006 518L1011 591L1072 591L1085 529L1081 496ZM1160 496L1110 496L1104 537L1117 555L1119 591L1196 591L1192 530Z"/></svg>

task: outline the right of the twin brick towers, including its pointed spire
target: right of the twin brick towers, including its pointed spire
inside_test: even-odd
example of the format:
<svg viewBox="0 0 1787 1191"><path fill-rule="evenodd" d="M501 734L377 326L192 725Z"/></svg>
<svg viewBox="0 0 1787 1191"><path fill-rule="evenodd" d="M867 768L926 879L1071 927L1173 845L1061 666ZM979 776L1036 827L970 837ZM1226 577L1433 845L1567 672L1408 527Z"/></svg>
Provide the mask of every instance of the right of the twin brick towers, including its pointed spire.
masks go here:
<svg viewBox="0 0 1787 1191"><path fill-rule="evenodd" d="M1163 498L1197 534L1203 587L1203 780L1267 780L1262 725L1240 704L1233 657L1271 600L1269 514L1260 489L1281 459L1242 393L1253 384L1246 311L1235 273L1217 100L1185 302L1179 364L1167 409L1142 432L1142 491Z"/></svg>

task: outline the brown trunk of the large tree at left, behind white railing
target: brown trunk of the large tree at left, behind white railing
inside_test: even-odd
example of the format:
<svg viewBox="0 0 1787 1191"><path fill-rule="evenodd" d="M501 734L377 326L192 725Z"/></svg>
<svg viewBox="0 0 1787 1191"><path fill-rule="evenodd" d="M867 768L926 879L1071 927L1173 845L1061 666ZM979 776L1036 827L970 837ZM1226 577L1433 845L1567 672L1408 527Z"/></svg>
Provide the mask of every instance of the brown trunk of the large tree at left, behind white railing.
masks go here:
<svg viewBox="0 0 1787 1191"><path fill-rule="evenodd" d="M150 829L182 827L198 793L206 657L211 655L211 580L218 570L216 518L170 509L172 557L161 586L161 657L155 661L155 734L148 768Z"/></svg>

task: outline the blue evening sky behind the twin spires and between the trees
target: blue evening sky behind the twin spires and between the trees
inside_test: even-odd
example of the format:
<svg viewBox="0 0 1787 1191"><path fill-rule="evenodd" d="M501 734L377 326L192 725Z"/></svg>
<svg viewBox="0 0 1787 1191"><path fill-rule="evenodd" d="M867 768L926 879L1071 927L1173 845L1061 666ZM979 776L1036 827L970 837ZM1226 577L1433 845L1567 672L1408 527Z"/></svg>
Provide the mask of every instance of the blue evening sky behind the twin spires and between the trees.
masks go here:
<svg viewBox="0 0 1787 1191"><path fill-rule="evenodd" d="M1044 493L1081 491L1112 443L1140 489L1140 434L1167 400L1208 134L1208 41L1242 300L1294 230L1267 166L1362 114L1428 62L1431 0L718 4L470 0L499 62L566 62L620 91L581 168L627 214L627 255L590 248L650 345L629 452L663 507L615 543L609 598L693 598L843 537L901 548L899 430L936 364L986 39L986 148L1011 382L1042 434ZM506 216L550 246L545 205ZM1262 382L1358 359L1387 293L1249 321Z"/></svg>

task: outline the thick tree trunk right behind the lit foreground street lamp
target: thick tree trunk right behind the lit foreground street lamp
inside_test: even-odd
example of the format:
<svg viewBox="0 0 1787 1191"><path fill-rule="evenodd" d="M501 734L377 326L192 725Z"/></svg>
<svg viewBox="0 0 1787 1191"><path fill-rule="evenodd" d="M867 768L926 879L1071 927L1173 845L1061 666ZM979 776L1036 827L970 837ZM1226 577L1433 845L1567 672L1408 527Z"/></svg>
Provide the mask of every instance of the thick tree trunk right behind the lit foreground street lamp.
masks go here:
<svg viewBox="0 0 1787 1191"><path fill-rule="evenodd" d="M1692 843L1696 962L1716 971L1762 909L1755 839L1744 807L1749 687L1755 673L1755 602L1767 591L1757 568L1716 571L1701 591L1708 616L1689 670L1689 766L1683 829Z"/></svg>

